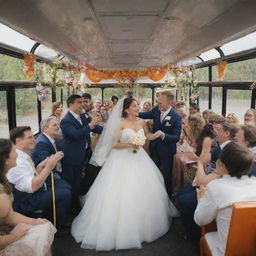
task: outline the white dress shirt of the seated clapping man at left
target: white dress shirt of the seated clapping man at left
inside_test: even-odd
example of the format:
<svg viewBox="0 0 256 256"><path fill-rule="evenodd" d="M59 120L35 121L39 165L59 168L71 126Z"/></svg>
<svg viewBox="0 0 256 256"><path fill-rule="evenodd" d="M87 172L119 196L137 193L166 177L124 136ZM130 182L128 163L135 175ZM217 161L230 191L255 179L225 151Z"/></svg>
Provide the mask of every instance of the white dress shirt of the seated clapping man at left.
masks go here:
<svg viewBox="0 0 256 256"><path fill-rule="evenodd" d="M17 190L33 193L32 179L35 176L35 169L30 163L30 156L19 149L16 149L16 152L18 154L17 166L11 168L6 177L10 183L15 185Z"/></svg>

